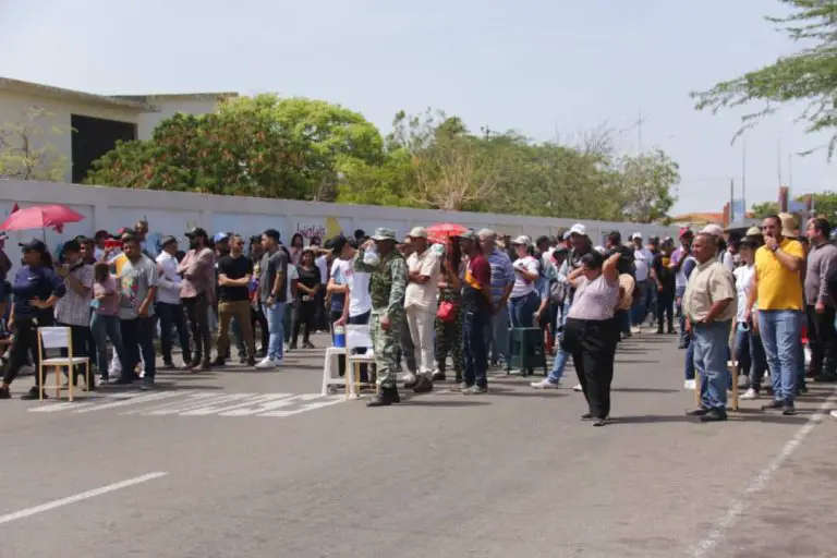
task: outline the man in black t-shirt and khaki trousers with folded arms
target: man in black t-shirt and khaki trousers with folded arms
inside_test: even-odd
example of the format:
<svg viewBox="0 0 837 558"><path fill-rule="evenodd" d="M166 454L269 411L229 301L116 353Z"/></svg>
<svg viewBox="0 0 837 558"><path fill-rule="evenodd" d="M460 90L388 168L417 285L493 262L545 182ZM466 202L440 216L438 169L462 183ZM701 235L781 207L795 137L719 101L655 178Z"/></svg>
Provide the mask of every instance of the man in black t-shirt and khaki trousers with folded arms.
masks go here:
<svg viewBox="0 0 837 558"><path fill-rule="evenodd" d="M218 356L216 366L223 366L230 355L230 322L233 317L241 327L247 349L247 366L256 365L256 345L250 320L250 281L253 260L243 254L244 240L230 238L230 253L218 260Z"/></svg>

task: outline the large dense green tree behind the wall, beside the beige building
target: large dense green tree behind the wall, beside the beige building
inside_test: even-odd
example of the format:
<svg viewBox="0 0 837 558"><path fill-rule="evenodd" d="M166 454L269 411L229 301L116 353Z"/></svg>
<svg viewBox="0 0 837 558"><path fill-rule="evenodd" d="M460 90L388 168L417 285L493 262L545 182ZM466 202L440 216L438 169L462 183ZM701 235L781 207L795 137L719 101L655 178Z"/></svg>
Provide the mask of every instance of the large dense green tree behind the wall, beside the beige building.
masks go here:
<svg viewBox="0 0 837 558"><path fill-rule="evenodd" d="M332 202L343 169L383 161L360 113L275 95L240 97L209 114L175 114L148 142L121 144L87 183Z"/></svg>

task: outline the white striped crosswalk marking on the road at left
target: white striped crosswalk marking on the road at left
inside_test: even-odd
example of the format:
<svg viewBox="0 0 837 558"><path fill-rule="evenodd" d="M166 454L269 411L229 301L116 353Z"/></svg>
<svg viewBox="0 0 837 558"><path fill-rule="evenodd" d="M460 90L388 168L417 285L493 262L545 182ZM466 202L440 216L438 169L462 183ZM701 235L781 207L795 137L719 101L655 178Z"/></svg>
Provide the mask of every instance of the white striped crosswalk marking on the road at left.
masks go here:
<svg viewBox="0 0 837 558"><path fill-rule="evenodd" d="M126 391L97 393L77 402L52 402L32 407L33 413L71 414L113 411L123 416L268 416L282 418L324 409L347 399L320 393L218 393L197 391Z"/></svg>

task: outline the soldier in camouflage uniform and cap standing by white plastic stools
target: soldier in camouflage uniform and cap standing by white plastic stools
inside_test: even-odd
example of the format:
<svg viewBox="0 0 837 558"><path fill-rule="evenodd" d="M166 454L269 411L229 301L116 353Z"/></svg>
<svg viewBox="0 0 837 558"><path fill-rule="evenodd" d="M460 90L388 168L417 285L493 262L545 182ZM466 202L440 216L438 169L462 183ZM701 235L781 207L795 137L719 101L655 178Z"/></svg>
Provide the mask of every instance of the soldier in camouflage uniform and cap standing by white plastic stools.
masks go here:
<svg viewBox="0 0 837 558"><path fill-rule="evenodd" d="M377 254L368 251L371 243L377 247ZM376 229L372 240L361 246L354 260L355 271L371 274L369 332L377 364L378 393L366 403L367 407L385 407L401 401L396 386L396 348L404 322L407 262L396 250L396 243L395 231Z"/></svg>

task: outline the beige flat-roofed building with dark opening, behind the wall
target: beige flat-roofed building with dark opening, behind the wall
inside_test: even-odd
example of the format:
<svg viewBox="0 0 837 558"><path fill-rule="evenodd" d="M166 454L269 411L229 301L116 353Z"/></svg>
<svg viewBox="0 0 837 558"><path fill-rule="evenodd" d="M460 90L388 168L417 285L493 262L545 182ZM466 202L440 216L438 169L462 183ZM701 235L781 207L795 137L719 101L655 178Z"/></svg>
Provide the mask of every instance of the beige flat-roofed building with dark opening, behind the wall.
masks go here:
<svg viewBox="0 0 837 558"><path fill-rule="evenodd" d="M118 140L148 140L155 126L175 112L204 114L235 93L182 95L96 95L0 77L0 125L24 123L33 109L36 142L49 142L71 162L64 182L81 182L90 163Z"/></svg>

